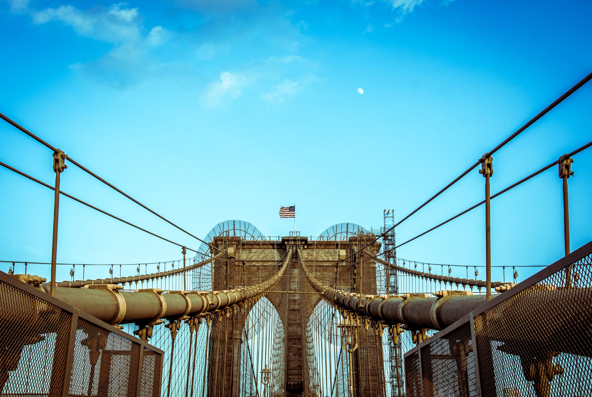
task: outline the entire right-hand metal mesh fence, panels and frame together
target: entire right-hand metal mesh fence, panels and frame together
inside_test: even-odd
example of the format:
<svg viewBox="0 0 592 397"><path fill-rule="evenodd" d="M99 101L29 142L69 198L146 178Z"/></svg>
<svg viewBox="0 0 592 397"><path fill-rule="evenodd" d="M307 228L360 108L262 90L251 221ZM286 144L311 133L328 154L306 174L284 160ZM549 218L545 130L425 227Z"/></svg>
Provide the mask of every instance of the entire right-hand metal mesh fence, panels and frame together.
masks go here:
<svg viewBox="0 0 592 397"><path fill-rule="evenodd" d="M592 395L592 242L405 354L407 397Z"/></svg>

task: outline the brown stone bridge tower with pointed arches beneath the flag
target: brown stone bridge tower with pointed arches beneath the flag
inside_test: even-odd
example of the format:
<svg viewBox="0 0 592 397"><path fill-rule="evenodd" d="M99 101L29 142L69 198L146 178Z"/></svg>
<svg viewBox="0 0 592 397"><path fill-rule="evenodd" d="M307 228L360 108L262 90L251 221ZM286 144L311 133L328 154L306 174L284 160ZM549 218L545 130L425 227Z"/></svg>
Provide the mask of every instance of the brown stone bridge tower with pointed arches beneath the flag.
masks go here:
<svg viewBox="0 0 592 397"><path fill-rule="evenodd" d="M377 293L377 263L374 260L362 262L363 255L370 258L380 249L380 244L375 242L364 249L363 255L359 250L371 242L374 238L371 234L350 236L346 239L314 239L307 237L289 236L278 239L249 239L243 236L218 235L213 239L213 244L231 258L220 251L214 261L213 289L230 290L240 289L268 280L282 268L285 270L281 281L276 284L273 291L266 295L278 311L284 325L284 370L285 385L283 392L275 396L314 396L310 390L309 361L305 356L307 351L307 337L305 329L313 315L314 308L320 302L320 296L314 292L313 287L304 274L298 260L297 250L300 250L303 261L309 270L313 270L314 277L321 283L335 287L342 291L362 294ZM286 255L290 255L286 258ZM237 259L237 258L240 258ZM337 260L344 260L335 265ZM249 309L246 309L249 310ZM210 355L208 364L210 367L210 382L218 385L218 390L208 388L208 395L239 396L239 379L242 360L241 340L244 318L248 313L233 313L218 322L223 332L218 332L210 337ZM236 319L239 319L237 322ZM240 319L243 319L242 321ZM215 319L213 321L216 321ZM360 343L352 354L353 378L350 388L355 396L376 397L382 396L382 392L369 392L371 386L368 383L368 370L379 373L379 366L383 363L382 345L377 342L374 330L367 331L363 326L359 327L362 335ZM363 335L367 333L367 335ZM229 338L234 338L235 343L229 343ZM379 341L379 340L378 340ZM220 363L226 363L221 367ZM366 376L362 376L363 373ZM376 389L376 388L375 388Z"/></svg>

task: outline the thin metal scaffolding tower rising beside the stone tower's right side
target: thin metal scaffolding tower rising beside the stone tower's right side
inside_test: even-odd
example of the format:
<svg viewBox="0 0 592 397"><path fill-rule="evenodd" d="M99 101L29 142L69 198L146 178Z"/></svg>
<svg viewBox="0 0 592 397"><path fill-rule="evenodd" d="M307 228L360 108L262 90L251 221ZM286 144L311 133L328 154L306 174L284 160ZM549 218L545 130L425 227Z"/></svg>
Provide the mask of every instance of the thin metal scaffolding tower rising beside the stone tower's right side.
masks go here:
<svg viewBox="0 0 592 397"><path fill-rule="evenodd" d="M382 249L384 250L384 260L387 265L384 267L386 292L388 295L398 294L397 270L394 265L397 263L397 250L395 247L395 216L394 210L384 210L384 228L382 233ZM390 364L389 382L391 384L391 397L402 397L404 394L403 377L403 354L401 342L395 344L392 338L388 339L388 362Z"/></svg>

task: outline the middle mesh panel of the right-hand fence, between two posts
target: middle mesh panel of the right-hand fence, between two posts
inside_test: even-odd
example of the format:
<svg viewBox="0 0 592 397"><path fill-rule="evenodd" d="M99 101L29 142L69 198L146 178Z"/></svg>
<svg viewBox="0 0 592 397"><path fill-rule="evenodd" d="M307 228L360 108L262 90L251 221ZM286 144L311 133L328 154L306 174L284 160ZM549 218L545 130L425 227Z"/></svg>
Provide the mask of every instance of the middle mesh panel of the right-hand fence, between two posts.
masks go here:
<svg viewBox="0 0 592 397"><path fill-rule="evenodd" d="M422 347L423 396L477 396L468 322Z"/></svg>

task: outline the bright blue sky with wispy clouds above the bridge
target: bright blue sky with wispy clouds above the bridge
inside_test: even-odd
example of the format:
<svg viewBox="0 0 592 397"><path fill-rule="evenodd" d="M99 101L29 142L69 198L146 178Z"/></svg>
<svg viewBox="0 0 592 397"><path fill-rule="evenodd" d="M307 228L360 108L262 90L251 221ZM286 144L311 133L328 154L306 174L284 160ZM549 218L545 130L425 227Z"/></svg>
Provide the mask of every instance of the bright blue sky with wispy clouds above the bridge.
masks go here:
<svg viewBox="0 0 592 397"><path fill-rule="evenodd" d="M227 219L287 235L278 209L294 203L303 235L377 228L383 209L400 219L587 75L591 17L590 1L5 0L0 111L198 236ZM591 100L588 85L496 153L492 191L590 141ZM53 184L49 149L5 123L0 160ZM574 249L592 239L591 165L576 156L570 178ZM398 241L482 200L483 185L475 170ZM0 186L0 259L49 261L52 191L2 169ZM74 166L62 190L199 246ZM562 256L556 168L492 211L494 265ZM482 265L483 230L480 208L398 254ZM59 262L179 256L62 198Z"/></svg>

